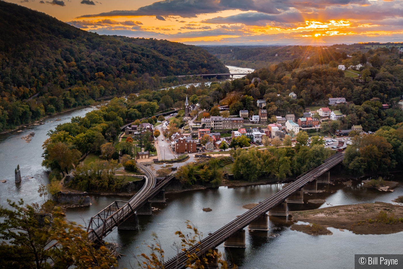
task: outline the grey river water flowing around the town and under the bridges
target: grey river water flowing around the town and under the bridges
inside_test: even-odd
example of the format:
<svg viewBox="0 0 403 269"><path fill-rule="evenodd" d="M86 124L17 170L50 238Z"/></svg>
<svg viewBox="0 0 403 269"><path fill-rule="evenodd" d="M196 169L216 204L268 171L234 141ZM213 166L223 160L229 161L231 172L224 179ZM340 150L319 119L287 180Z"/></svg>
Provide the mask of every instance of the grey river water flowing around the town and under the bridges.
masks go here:
<svg viewBox="0 0 403 269"><path fill-rule="evenodd" d="M6 199L16 201L23 198L25 203L40 202L37 194L39 184L47 184L46 170L41 166L42 143L46 133L57 124L69 122L71 117L84 116L94 108L79 108L77 110L58 114L44 120L44 125L31 126L22 132L11 132L0 135L0 205L6 206ZM61 119L56 121L56 119ZM25 143L22 136L35 132L31 143ZM20 165L22 182L14 183L14 169ZM32 177L32 178L29 178ZM331 175L332 177L332 175ZM391 180L401 180L401 174L391 176ZM238 188L220 187L215 189L193 190L177 194L167 194L166 203L154 203L151 216L139 216L138 231L117 231L106 237L106 241L119 244L118 252L126 255L119 260L119 268L137 268L133 255L149 253L145 244L151 244L152 234L156 233L165 250L165 259L176 254L171 247L173 242L179 242L174 232L185 230L185 221L192 221L200 231L207 236L224 224L232 221L237 215L245 213L242 206L248 203L258 203L281 190L283 184L245 186ZM380 192L361 186L360 180L353 180L351 186L335 181L334 184L320 184L319 189L325 192L304 195L308 199L324 199L326 203L318 204L289 204L289 210L314 209L331 205L346 205L383 201L391 203L399 195L403 195L403 184L399 183L394 192ZM130 197L91 195L91 206L66 210L67 219L85 226L88 219L109 205L114 200L125 200ZM204 207L210 207L211 212L204 212ZM290 221L270 217L270 232L279 236L269 236L267 232L246 231L245 249L224 248L226 259L239 265L241 269L249 268L353 268L354 254L400 254L403 232L388 235L356 235L352 232L341 232L329 228L331 236L311 236L292 231ZM246 229L245 229L246 230ZM145 243L145 244L143 244Z"/></svg>

